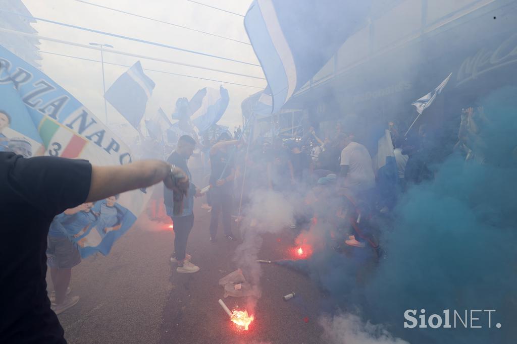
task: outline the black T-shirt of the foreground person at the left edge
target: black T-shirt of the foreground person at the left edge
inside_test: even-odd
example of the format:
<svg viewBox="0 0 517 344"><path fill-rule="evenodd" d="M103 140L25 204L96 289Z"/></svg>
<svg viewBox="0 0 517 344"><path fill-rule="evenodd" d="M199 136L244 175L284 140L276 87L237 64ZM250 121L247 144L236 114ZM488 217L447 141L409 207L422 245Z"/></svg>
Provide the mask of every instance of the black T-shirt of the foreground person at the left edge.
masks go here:
<svg viewBox="0 0 517 344"><path fill-rule="evenodd" d="M0 343L65 342L47 296L47 234L91 180L84 160L0 152Z"/></svg>

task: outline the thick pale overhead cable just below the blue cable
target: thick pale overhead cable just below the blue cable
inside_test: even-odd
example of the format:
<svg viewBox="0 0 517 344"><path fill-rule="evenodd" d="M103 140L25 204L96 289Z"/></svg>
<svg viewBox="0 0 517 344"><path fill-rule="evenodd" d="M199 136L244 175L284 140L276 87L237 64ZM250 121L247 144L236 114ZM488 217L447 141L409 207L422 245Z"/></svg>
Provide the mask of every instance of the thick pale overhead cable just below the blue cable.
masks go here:
<svg viewBox="0 0 517 344"><path fill-rule="evenodd" d="M56 42L56 43L62 43L62 44L67 44L67 45L73 45L73 46L79 46L80 48L85 48L85 49L92 49L92 50L99 50L99 51L101 50L97 46L80 44L80 43L75 43L75 42L70 42L70 41L64 41L64 40L60 40L60 39L56 39L56 38L44 37L44 36L40 36L40 35L36 35L36 34L29 34L29 33L24 33L24 32L20 32L20 31L16 31L16 30L5 29L5 28L1 28L1 27L0 27L0 32L17 34L17 35L21 35L21 36L35 37L35 38L41 39L41 40L46 40L46 41L51 41L51 42ZM138 57L138 58L145 58L145 59L148 59L148 60L165 62L165 63L172 64L172 65L185 66L185 67L191 67L191 68L199 68L199 69L204 69L204 70L209 70L209 71L214 71L214 72L220 72L220 73L225 73L225 74L232 74L232 75L251 77L252 79L266 80L266 79L264 79L263 77L260 77L260 76L253 76L253 75L235 73L235 72L230 72L230 71L225 71L225 70L220 70L220 69L215 69L215 68L209 68L209 67L185 64L183 62L178 62L178 61L173 61L173 60L168 60L168 59L158 58L158 57L145 56L145 55L140 55L140 54L132 54L132 53L127 53L127 52L123 52L123 51L119 51L119 50L114 50L114 49L103 48L102 51L108 52L108 53L113 53L113 54L119 54L119 55L126 55L126 56Z"/></svg>

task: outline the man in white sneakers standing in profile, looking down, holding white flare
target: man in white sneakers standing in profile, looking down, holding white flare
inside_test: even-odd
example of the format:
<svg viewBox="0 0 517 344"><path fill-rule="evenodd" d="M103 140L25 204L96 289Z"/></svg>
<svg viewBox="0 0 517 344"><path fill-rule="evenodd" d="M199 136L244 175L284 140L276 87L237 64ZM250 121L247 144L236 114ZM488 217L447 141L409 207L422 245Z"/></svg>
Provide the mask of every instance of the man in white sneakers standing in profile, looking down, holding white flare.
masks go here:
<svg viewBox="0 0 517 344"><path fill-rule="evenodd" d="M189 135L183 135L179 138L176 149L172 152L167 162L181 168L185 171L189 180L192 180L190 170L187 166L187 160L191 157L195 148L195 140ZM183 211L174 215L174 206L176 199L174 191L168 187L163 188L163 201L167 215L171 216L174 227L174 252L171 256L171 262L176 262L177 272L194 273L199 271L199 267L194 265L190 260L192 257L187 255L187 241L190 231L194 226L194 196L201 196L201 191L191 182L187 196L183 202Z"/></svg>

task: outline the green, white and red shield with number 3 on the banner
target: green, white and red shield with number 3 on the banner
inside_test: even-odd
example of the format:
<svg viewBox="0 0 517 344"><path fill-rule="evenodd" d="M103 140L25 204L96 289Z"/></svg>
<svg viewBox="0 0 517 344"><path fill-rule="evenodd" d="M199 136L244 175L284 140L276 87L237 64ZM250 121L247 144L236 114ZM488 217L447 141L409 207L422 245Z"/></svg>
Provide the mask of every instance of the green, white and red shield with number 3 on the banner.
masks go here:
<svg viewBox="0 0 517 344"><path fill-rule="evenodd" d="M48 117L41 120L38 131L43 146L54 157L77 158L88 143L86 138Z"/></svg>

